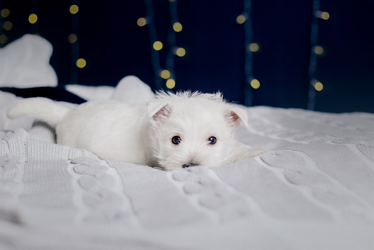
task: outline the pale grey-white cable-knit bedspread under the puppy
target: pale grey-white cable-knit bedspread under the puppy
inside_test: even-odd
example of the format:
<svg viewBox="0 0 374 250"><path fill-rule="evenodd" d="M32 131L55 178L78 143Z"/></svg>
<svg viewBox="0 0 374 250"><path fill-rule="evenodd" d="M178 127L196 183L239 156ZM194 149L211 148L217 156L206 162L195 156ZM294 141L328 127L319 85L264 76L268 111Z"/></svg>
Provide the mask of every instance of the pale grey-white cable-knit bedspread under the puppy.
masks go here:
<svg viewBox="0 0 374 250"><path fill-rule="evenodd" d="M374 249L374 115L248 108L266 153L166 172L54 144L0 93L0 249ZM13 132L12 132L13 131Z"/></svg>

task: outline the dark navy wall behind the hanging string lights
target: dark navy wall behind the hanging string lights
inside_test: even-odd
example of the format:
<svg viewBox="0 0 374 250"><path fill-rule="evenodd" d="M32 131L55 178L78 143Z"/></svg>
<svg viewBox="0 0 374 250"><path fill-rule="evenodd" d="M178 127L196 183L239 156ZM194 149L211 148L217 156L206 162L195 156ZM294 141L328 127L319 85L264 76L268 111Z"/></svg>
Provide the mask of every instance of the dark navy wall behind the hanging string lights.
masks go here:
<svg viewBox="0 0 374 250"><path fill-rule="evenodd" d="M71 83L67 37L73 33L69 7L75 2L3 0L0 6L10 10L2 22L13 24L9 31L1 25L7 43L25 33L39 33L52 43L50 64L59 85ZM87 61L86 67L77 69L78 83L115 86L122 77L135 75L154 89L147 25L137 25L137 19L145 16L144 2L79 1L77 5L79 56ZM165 68L169 1L153 0L153 5L157 39L164 45L160 63ZM374 2L321 0L320 9L330 18L319 20L318 41L324 54L318 57L316 76L324 88L316 93L315 110L374 112ZM240 0L178 1L183 30L176 33L176 43L186 49L186 55L175 57L173 91L220 90L226 99L244 102L244 28L236 23L242 11ZM36 24L28 22L30 13L37 13ZM261 83L252 89L253 105L306 108L312 0L252 0L251 16L253 42L260 45L253 72Z"/></svg>

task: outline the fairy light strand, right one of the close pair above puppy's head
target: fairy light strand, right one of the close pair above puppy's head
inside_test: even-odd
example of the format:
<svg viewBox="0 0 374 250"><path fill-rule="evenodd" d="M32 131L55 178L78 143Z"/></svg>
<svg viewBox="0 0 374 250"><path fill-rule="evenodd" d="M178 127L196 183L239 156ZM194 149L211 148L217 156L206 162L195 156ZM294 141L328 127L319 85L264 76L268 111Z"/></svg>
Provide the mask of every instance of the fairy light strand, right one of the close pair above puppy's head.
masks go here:
<svg viewBox="0 0 374 250"><path fill-rule="evenodd" d="M169 12L170 12L170 21L171 21L170 26L171 27L169 28L169 33L168 33L169 51L168 51L168 54L166 55L166 69L170 73L169 77L174 80L172 81L172 84L174 85L170 85L171 81L169 81L169 84L166 85L166 87L168 88L175 87L174 59L175 59L175 53L178 48L177 48L176 41L175 41L176 31L173 25L179 24L177 6L178 6L178 0L169 2Z"/></svg>

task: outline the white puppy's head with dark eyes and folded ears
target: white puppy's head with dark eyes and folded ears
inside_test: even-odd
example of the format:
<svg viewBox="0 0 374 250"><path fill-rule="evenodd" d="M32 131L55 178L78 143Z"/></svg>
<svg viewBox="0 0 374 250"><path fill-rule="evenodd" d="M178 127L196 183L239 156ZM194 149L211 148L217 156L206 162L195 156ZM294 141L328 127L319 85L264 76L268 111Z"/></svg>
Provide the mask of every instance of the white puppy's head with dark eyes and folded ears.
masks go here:
<svg viewBox="0 0 374 250"><path fill-rule="evenodd" d="M221 93L159 92L147 104L153 156L166 170L223 165L232 157L234 131L247 111Z"/></svg>

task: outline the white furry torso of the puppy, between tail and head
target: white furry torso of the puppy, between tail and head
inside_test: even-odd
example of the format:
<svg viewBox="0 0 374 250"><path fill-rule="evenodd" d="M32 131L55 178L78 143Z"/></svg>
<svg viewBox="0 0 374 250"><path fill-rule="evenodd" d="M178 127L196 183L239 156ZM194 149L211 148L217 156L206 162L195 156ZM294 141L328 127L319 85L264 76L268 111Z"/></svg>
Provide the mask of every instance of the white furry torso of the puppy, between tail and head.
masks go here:
<svg viewBox="0 0 374 250"><path fill-rule="evenodd" d="M57 124L57 143L84 148L100 159L150 164L149 123L145 105L86 102Z"/></svg>

